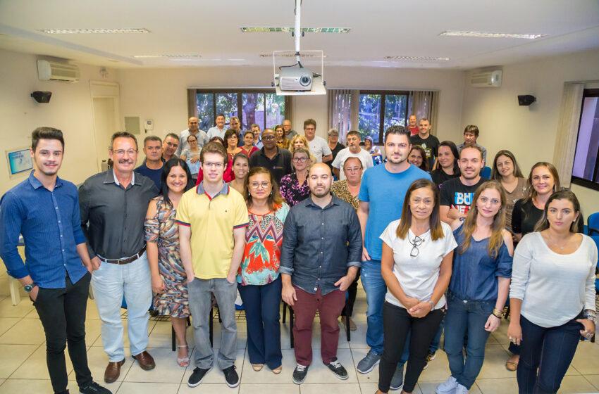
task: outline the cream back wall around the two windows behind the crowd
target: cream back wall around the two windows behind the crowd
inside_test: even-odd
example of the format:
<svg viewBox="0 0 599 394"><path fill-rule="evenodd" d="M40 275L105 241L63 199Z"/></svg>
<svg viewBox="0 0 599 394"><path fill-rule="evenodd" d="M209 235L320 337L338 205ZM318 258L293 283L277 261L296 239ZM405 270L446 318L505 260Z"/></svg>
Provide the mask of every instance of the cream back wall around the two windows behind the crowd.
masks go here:
<svg viewBox="0 0 599 394"><path fill-rule="evenodd" d="M464 72L455 70L400 70L390 68L326 68L329 89L422 89L440 90L440 139L459 135ZM121 115L154 120L154 134L180 132L187 128L189 87L270 87L271 68L161 68L118 70L121 84ZM308 117L318 124L317 134L326 135L326 96L295 96L292 122L296 130Z"/></svg>

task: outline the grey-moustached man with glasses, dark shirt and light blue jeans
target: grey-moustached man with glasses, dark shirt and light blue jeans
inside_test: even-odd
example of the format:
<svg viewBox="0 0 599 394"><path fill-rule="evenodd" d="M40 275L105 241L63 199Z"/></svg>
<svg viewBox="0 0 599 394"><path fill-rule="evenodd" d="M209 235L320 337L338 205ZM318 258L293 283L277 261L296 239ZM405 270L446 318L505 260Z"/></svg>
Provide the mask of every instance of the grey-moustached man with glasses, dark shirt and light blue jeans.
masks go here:
<svg viewBox="0 0 599 394"><path fill-rule="evenodd" d="M144 219L158 194L152 179L135 174L137 139L128 132L112 135L113 168L89 177L79 189L81 226L92 264L92 288L102 321L102 344L109 357L104 381L112 383L125 363L121 305L127 304L131 355L144 370L154 369L147 352L148 308L152 304Z"/></svg>

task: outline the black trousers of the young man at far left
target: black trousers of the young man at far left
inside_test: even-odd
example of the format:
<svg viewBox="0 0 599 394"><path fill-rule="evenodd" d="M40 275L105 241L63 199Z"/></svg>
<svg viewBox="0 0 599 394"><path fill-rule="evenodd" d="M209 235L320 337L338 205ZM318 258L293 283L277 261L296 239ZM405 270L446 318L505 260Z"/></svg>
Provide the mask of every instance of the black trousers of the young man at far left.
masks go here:
<svg viewBox="0 0 599 394"><path fill-rule="evenodd" d="M92 383L85 346L85 310L91 279L92 275L87 273L75 284L67 277L66 288L39 288L33 303L46 333L46 362L54 393L67 392L64 357L67 343L78 386Z"/></svg>

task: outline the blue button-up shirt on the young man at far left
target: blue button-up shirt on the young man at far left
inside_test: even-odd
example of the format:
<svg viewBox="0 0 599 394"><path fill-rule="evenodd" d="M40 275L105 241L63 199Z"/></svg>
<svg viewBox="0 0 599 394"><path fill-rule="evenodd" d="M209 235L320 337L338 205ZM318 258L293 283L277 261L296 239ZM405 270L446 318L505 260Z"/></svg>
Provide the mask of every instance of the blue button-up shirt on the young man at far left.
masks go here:
<svg viewBox="0 0 599 394"><path fill-rule="evenodd" d="M17 250L19 234L25 240L25 262ZM87 268L76 246L85 243L81 230L79 195L71 182L56 178L54 191L33 176L13 187L0 200L0 257L16 279L30 275L42 288L66 287Z"/></svg>

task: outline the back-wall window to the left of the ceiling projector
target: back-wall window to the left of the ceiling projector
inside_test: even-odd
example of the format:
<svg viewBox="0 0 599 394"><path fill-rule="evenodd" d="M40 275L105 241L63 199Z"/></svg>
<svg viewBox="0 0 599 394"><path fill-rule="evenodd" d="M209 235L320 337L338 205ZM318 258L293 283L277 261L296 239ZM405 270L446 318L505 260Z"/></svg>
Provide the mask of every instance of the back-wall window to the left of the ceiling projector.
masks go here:
<svg viewBox="0 0 599 394"><path fill-rule="evenodd" d="M275 127L285 119L285 96L277 96L271 90L204 90L196 91L199 128L207 131L214 127L216 115L225 115L226 127L232 116L241 120L243 130L254 123L260 129Z"/></svg>

